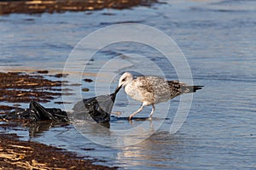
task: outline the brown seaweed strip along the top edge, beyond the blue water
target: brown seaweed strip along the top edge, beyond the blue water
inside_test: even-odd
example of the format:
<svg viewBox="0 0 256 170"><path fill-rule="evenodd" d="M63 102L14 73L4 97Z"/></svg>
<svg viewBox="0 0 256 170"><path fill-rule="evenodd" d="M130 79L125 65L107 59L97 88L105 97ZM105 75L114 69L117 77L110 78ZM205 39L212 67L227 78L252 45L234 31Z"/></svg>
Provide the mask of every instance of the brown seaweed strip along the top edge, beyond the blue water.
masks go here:
<svg viewBox="0 0 256 170"><path fill-rule="evenodd" d="M11 13L54 13L64 11L86 11L102 8L131 8L138 5L150 6L156 0L1 0L0 14Z"/></svg>

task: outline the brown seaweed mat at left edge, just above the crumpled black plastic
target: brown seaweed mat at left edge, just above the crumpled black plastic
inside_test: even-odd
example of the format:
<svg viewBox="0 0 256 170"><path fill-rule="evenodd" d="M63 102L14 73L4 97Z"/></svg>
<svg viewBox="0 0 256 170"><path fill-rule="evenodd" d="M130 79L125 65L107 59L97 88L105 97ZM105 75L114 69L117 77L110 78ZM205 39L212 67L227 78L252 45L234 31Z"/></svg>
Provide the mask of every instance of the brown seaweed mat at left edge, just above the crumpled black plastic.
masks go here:
<svg viewBox="0 0 256 170"><path fill-rule="evenodd" d="M42 75L21 72L0 72L0 101L29 103L32 100L46 103L61 96L61 81L45 79ZM0 113L18 106L0 105Z"/></svg>

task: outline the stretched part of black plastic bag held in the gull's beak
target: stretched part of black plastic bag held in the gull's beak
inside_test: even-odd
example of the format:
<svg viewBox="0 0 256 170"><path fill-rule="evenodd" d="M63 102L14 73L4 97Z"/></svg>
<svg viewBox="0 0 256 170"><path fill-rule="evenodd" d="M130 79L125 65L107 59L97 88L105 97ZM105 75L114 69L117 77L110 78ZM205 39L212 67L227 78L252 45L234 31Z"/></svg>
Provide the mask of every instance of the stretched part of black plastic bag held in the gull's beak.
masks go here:
<svg viewBox="0 0 256 170"><path fill-rule="evenodd" d="M117 88L113 94L100 95L79 101L73 107L74 114L82 113L88 119L91 117L94 121L99 123L109 122L115 96L120 88L121 87Z"/></svg>

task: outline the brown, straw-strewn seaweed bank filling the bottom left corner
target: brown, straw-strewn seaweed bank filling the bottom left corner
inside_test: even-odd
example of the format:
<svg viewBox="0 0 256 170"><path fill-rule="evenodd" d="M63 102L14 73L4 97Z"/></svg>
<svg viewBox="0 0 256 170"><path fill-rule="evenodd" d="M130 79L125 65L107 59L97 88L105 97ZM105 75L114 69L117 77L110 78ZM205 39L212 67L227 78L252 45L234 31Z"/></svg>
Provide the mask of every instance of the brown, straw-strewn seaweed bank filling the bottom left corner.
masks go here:
<svg viewBox="0 0 256 170"><path fill-rule="evenodd" d="M117 169L93 165L73 152L0 133L0 169Z"/></svg>

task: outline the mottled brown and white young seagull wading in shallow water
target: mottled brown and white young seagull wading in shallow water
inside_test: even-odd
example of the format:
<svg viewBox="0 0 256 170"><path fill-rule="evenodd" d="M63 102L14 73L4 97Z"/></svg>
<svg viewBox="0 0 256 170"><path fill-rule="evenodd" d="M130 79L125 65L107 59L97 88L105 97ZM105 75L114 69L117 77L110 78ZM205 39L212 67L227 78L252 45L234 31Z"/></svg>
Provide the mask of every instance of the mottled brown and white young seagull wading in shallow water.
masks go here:
<svg viewBox="0 0 256 170"><path fill-rule="evenodd" d="M132 117L143 111L146 105L152 105L152 111L149 115L151 118L155 111L155 104L166 102L181 94L194 93L203 86L188 86L186 83L174 81L166 81L163 77L143 76L134 78L130 72L125 72L119 78L117 88L125 88L125 93L132 99L142 102L141 107L129 116Z"/></svg>

